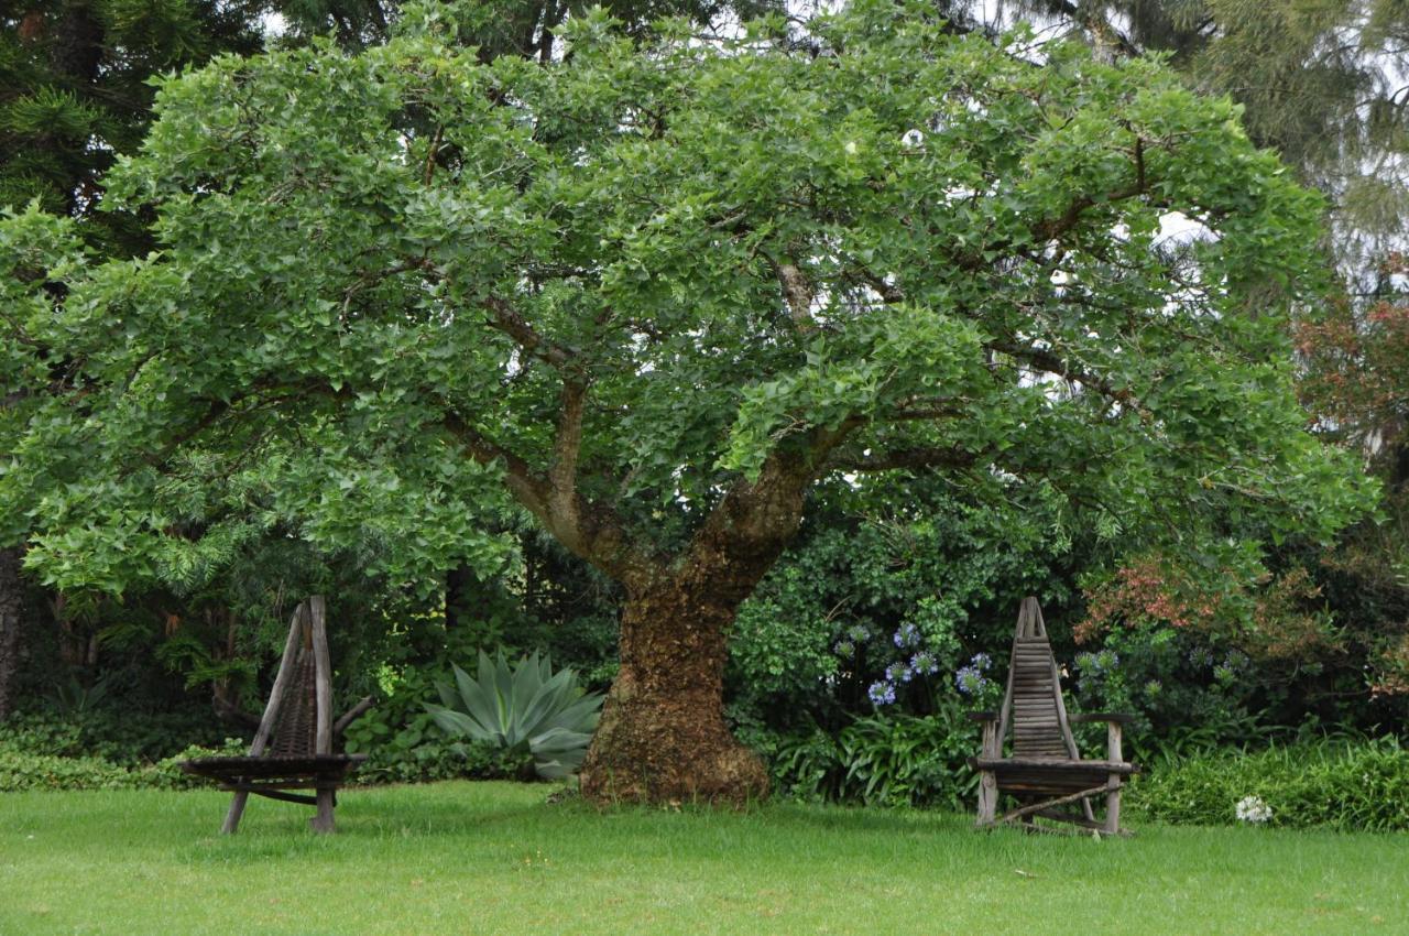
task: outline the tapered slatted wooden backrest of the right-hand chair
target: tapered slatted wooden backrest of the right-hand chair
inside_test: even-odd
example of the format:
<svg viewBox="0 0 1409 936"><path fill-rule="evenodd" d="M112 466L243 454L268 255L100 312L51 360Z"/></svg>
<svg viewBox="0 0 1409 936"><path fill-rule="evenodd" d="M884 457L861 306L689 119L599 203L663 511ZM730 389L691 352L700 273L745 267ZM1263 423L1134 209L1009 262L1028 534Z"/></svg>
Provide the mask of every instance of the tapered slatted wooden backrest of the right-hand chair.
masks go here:
<svg viewBox="0 0 1409 936"><path fill-rule="evenodd" d="M1057 660L1047 643L1047 624L1036 598L1024 598L1017 613L1007 691L998 718L1000 746L1009 727L1013 730L1013 757L1079 758L1061 698Z"/></svg>

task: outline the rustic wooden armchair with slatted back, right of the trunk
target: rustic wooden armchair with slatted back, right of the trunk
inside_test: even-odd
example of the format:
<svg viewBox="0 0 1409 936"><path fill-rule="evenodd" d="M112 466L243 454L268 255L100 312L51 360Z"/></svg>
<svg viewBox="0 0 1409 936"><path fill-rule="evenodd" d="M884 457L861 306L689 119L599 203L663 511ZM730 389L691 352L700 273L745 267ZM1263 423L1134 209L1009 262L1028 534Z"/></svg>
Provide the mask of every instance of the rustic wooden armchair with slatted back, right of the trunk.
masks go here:
<svg viewBox="0 0 1409 936"><path fill-rule="evenodd" d="M1060 671L1036 598L1024 598L1017 615L1002 712L975 712L971 718L983 725L982 753L969 758L979 771L979 827L1022 822L1033 830L1075 832L1038 826L1034 819L1040 816L1106 835L1127 835L1120 829L1120 787L1138 770L1120 753L1120 730L1130 716L1067 713ZM1106 760L1082 760L1071 736L1074 722L1106 723ZM1009 729L1012 751L1005 754ZM998 796L1003 792L1016 796L1020 805L998 818ZM1095 796L1106 798L1102 822L1091 808Z"/></svg>

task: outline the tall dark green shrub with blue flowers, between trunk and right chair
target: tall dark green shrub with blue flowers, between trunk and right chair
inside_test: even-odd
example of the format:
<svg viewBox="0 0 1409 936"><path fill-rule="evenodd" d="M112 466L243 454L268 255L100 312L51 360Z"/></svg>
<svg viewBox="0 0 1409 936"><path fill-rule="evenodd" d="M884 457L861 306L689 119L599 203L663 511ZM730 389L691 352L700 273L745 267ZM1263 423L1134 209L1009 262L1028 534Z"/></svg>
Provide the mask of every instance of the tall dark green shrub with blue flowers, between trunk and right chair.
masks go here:
<svg viewBox="0 0 1409 936"><path fill-rule="evenodd" d="M1051 571L1072 548L1051 499L983 502L914 478L876 500L899 500L902 484L909 505L895 510L827 492L743 605L730 637L735 722L836 726L871 712L874 688L893 695L883 706L929 713L961 663L1006 651L1023 595L1069 598Z"/></svg>

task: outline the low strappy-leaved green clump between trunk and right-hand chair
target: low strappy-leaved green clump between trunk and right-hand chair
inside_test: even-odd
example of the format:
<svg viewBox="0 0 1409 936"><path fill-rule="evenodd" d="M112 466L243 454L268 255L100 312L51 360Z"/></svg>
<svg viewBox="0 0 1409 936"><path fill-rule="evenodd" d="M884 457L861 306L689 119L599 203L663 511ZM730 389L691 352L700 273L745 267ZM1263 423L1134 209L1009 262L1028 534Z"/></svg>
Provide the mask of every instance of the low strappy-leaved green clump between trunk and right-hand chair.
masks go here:
<svg viewBox="0 0 1409 936"><path fill-rule="evenodd" d="M929 716L874 715L836 739L819 727L781 740L774 784L807 801L962 808L978 782L967 764L975 743L957 703Z"/></svg>

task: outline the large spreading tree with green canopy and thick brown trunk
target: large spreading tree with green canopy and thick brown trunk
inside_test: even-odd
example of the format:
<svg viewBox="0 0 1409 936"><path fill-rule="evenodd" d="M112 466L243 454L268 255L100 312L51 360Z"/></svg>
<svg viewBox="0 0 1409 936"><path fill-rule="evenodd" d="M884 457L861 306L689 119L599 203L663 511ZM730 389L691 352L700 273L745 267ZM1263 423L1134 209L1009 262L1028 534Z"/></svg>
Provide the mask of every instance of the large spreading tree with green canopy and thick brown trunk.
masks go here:
<svg viewBox="0 0 1409 936"><path fill-rule="evenodd" d="M52 581L139 575L261 452L314 531L349 491L507 492L624 589L585 792L740 799L726 634L820 481L1038 485L1131 538L1364 503L1281 328L1317 202L1158 65L879 1L647 44L589 14L538 63L407 18L166 82L108 179L158 252L4 221L6 389L49 392L0 498Z"/></svg>

